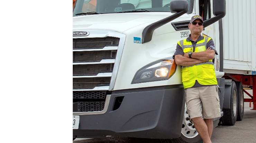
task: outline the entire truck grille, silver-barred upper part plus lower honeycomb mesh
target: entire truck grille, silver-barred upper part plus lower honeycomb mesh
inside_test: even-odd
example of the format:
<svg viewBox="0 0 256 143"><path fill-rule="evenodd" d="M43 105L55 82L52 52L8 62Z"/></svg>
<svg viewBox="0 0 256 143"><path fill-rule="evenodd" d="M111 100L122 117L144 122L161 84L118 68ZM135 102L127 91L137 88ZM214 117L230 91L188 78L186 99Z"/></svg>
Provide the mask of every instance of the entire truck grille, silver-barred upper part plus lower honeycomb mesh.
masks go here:
<svg viewBox="0 0 256 143"><path fill-rule="evenodd" d="M102 111L115 66L118 37L73 38L73 112ZM114 78L115 79L115 78ZM98 90L103 87L104 89Z"/></svg>

